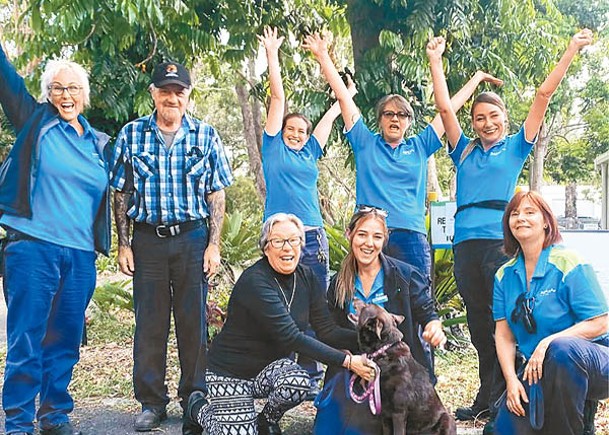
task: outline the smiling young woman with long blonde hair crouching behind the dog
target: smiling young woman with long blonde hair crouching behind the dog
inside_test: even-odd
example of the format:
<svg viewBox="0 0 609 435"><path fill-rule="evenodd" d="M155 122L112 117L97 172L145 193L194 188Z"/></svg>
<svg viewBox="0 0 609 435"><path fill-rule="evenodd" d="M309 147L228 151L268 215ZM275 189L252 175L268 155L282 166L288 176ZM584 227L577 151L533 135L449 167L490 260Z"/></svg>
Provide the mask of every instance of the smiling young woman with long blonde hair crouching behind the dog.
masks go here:
<svg viewBox="0 0 609 435"><path fill-rule="evenodd" d="M430 379L435 383L433 367L425 355L414 325L423 326L423 338L429 344L441 346L446 341L442 322L435 311L434 301L429 296L429 285L423 274L418 269L383 254L388 238L386 217L385 210L371 206L357 207L347 227L349 253L328 289L330 313L334 321L344 328L354 328L359 310L364 304L376 304L390 313L403 316L399 325L404 334L403 341L410 346L414 359L428 370ZM326 380L329 381L336 373L336 367L328 367ZM325 384L330 385L329 382ZM344 388L339 390L344 394ZM322 392L322 397L326 394L330 392ZM373 417L366 405L359 406L347 401L341 412L342 415L334 418L349 427L343 426L340 433L382 432L380 419ZM325 423L324 421L323 424ZM321 421L316 422L316 433L323 433L319 426L321 424Z"/></svg>

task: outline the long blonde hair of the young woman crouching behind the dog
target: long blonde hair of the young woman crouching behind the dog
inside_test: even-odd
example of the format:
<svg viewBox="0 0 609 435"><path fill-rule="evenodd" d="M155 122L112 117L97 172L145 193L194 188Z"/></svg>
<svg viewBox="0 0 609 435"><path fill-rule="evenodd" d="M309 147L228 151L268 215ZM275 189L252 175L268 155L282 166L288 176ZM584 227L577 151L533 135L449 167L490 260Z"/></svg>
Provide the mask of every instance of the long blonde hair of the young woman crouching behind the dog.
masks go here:
<svg viewBox="0 0 609 435"><path fill-rule="evenodd" d="M349 236L349 252L340 265L340 270L336 276L336 305L344 308L349 301L353 299L355 295L355 276L358 273L357 259L353 255L353 237L357 231L359 225L368 219L377 219L383 225L383 232L385 233L385 244L389 238L389 231L387 230L387 221L385 220L384 214L381 214L376 208L371 208L366 211L356 211L347 227Z"/></svg>

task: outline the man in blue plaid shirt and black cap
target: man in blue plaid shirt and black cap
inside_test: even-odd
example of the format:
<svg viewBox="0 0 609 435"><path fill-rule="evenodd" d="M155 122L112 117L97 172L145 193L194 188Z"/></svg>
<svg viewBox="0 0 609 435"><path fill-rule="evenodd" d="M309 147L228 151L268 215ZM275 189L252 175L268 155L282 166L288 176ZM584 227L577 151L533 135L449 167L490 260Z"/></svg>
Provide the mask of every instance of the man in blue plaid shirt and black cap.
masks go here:
<svg viewBox="0 0 609 435"><path fill-rule="evenodd" d="M133 384L142 404L137 431L150 431L167 417L172 308L183 407L192 391L205 390L207 279L220 264L223 189L232 173L216 131L186 114L191 89L184 66L157 65L150 85L155 111L122 128L111 166L118 262L133 276ZM187 422L182 432L201 433Z"/></svg>

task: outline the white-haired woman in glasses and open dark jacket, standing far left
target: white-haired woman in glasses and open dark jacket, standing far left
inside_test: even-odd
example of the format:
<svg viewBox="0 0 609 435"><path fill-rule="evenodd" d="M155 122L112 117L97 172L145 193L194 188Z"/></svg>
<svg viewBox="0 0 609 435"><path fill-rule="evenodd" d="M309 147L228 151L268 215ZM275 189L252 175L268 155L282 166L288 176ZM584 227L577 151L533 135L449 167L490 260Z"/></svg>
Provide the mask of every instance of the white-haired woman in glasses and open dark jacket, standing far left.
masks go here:
<svg viewBox="0 0 609 435"><path fill-rule="evenodd" d="M72 435L68 385L95 289L95 251L110 248L109 137L82 116L89 82L80 65L50 61L41 82L36 101L0 49L0 104L17 137L0 168L2 406L8 434L33 434L36 419L42 435Z"/></svg>

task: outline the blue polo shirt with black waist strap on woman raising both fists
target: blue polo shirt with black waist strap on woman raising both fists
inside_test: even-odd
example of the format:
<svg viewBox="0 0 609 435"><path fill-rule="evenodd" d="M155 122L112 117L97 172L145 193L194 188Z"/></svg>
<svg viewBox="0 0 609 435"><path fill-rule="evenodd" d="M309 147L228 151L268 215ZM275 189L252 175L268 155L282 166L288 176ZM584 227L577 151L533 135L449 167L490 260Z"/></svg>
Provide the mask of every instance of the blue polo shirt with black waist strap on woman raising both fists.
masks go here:
<svg viewBox="0 0 609 435"><path fill-rule="evenodd" d="M484 150L478 142L471 153L461 159L471 139L461 133L457 146L449 153L457 168L457 207L485 200L509 201L514 195L518 175L535 145L528 142L524 126ZM455 217L453 243L472 239L503 239L502 210L470 207Z"/></svg>

